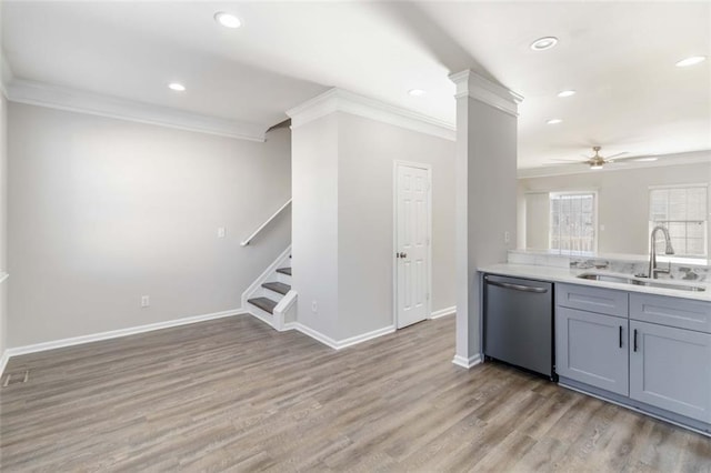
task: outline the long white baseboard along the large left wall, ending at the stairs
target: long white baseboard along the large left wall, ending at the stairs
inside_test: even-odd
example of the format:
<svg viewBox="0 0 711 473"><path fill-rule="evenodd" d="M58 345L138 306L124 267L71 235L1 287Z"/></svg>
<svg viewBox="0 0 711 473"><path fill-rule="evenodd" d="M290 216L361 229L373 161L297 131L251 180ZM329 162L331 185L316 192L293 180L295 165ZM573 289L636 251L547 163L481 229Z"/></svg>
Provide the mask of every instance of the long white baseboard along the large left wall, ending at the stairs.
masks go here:
<svg viewBox="0 0 711 473"><path fill-rule="evenodd" d="M83 343L98 342L101 340L118 339L121 336L134 335L138 333L152 332L154 330L169 329L172 326L188 325L190 323L204 322L213 319L244 314L247 311L234 309L231 311L214 312L211 314L194 315L183 319L174 319L166 322L151 323L148 325L131 326L128 329L111 330L109 332L92 333L90 335L73 336L71 339L54 340L51 342L36 343L32 345L16 346L7 349L7 356L18 356L28 353L43 352L47 350L62 349L66 346L81 345ZM4 355L3 355L4 358Z"/></svg>

